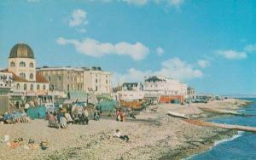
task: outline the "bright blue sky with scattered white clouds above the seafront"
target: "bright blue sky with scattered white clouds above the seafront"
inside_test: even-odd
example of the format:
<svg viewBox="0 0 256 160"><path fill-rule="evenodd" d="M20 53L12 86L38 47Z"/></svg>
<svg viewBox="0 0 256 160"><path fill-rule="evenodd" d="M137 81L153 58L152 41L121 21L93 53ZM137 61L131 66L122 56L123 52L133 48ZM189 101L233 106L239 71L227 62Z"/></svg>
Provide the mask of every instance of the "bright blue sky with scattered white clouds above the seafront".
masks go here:
<svg viewBox="0 0 256 160"><path fill-rule="evenodd" d="M0 68L20 42L38 67L102 66L114 85L157 75L256 94L254 0L2 0Z"/></svg>

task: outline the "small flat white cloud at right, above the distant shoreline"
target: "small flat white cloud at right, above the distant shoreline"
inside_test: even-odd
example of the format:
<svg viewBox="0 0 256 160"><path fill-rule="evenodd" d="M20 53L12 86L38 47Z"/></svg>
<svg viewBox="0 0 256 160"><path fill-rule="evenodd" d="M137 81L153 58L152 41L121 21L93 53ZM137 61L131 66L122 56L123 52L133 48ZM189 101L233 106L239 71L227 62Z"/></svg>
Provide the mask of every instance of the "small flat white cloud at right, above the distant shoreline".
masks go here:
<svg viewBox="0 0 256 160"><path fill-rule="evenodd" d="M218 50L217 54L228 60L243 60L247 58L246 52L238 52L236 50Z"/></svg>

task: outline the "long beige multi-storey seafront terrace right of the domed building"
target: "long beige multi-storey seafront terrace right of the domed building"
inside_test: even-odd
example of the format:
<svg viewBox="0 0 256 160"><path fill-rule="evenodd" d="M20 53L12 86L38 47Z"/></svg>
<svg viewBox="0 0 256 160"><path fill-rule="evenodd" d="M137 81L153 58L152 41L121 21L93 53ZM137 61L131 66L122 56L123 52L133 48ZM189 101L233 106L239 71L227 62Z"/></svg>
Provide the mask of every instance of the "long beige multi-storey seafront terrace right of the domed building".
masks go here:
<svg viewBox="0 0 256 160"><path fill-rule="evenodd" d="M112 74L102 71L101 67L73 68L48 67L38 68L38 74L46 77L51 91L84 91L94 94L112 93Z"/></svg>

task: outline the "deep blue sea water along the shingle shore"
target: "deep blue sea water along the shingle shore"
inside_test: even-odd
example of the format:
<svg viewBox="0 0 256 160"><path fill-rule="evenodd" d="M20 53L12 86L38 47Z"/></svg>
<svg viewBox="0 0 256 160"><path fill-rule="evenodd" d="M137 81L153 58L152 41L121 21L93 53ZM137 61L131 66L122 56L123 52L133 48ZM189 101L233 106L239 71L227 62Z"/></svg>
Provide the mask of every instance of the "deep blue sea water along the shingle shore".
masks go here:
<svg viewBox="0 0 256 160"><path fill-rule="evenodd" d="M256 115L256 99L253 104L241 108L240 112ZM250 117L223 117L213 119L211 122L239 124L256 127L256 116ZM228 139L220 140L212 146L212 149L201 154L188 158L190 160L233 160L233 159L256 159L256 134L248 132L238 132L237 135Z"/></svg>

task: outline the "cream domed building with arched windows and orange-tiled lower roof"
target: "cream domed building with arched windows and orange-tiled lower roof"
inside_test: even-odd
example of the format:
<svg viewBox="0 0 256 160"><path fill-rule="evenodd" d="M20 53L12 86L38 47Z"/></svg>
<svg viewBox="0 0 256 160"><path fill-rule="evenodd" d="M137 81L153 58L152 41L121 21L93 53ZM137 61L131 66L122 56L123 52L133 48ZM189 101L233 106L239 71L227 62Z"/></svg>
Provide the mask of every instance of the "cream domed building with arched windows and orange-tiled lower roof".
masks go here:
<svg viewBox="0 0 256 160"><path fill-rule="evenodd" d="M37 95L49 90L49 82L37 74L33 50L26 43L17 43L10 50L8 71L14 75L15 91Z"/></svg>

